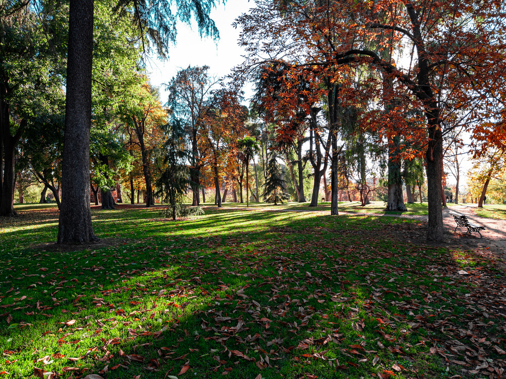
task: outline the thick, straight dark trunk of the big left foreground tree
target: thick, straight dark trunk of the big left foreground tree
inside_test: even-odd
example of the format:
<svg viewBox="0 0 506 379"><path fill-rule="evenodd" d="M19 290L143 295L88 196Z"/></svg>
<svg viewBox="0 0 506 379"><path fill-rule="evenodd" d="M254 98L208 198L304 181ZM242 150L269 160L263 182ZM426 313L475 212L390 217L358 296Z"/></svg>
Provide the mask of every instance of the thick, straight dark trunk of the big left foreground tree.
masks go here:
<svg viewBox="0 0 506 379"><path fill-rule="evenodd" d="M90 211L93 0L70 0L59 244L97 241Z"/></svg>

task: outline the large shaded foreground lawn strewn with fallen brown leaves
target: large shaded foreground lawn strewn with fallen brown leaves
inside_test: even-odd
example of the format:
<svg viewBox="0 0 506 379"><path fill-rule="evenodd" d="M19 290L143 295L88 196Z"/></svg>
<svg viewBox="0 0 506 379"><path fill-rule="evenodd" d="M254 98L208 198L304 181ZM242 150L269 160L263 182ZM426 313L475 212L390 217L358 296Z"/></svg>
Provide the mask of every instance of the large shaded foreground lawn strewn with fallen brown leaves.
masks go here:
<svg viewBox="0 0 506 379"><path fill-rule="evenodd" d="M176 222L159 208L93 209L104 244L80 251L49 245L54 207L17 206L0 219L0 378L481 378L506 367L503 272L486 251L395 240L412 220L290 206Z"/></svg>

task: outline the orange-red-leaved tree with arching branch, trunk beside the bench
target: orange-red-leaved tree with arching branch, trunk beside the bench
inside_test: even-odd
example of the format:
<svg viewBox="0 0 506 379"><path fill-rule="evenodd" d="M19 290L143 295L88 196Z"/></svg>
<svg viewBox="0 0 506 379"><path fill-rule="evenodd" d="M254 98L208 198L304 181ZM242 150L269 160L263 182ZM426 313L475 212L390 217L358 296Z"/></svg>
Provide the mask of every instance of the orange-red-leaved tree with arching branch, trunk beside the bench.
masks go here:
<svg viewBox="0 0 506 379"><path fill-rule="evenodd" d="M393 78L393 93L402 107L423 112L425 133L418 135L427 163L427 239L442 241L442 142L449 131L443 130L444 121L458 111L469 115L471 125L486 118L497 120L492 123L498 132L502 125L504 104L497 101L506 77L500 53L506 19L497 16L502 3L380 0L365 6L354 1L260 0L257 4L261 10L238 22L244 30L241 42L251 51L249 66L265 62L265 56L271 61L282 56L327 73L333 82L339 82L342 70L350 66L367 66ZM266 28L270 40L264 43ZM405 64L397 65L378 54L371 40L374 46L402 42L404 51L412 53ZM370 86L368 94L376 89ZM341 99L345 100L343 93Z"/></svg>

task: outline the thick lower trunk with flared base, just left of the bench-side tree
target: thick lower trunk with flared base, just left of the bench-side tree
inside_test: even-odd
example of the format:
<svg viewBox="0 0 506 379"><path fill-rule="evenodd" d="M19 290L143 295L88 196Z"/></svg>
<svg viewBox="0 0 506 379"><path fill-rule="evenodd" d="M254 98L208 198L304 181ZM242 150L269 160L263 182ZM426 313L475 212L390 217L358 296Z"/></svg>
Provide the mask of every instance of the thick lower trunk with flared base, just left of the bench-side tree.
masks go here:
<svg viewBox="0 0 506 379"><path fill-rule="evenodd" d="M401 160L399 159L399 136L392 138L388 148L388 195L387 211L407 211L402 191Z"/></svg>

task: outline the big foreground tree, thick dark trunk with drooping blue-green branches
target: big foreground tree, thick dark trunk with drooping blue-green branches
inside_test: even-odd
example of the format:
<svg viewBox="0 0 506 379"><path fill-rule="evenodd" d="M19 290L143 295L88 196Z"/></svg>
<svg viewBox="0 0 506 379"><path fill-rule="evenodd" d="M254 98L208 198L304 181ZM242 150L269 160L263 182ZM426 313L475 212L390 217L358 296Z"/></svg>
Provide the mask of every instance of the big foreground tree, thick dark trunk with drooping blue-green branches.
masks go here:
<svg viewBox="0 0 506 379"><path fill-rule="evenodd" d="M177 19L189 23L195 16L201 34L218 37L218 30L209 18L214 0L178 2L176 13L172 12L171 4L170 1L158 2L157 7L152 7L148 1L120 0L116 10L129 13L133 7L143 46L147 33L161 55L167 50L168 42L176 38ZM82 244L97 240L89 204L93 0L70 0L68 46L62 163L65 204L62 204L58 223L58 243Z"/></svg>

